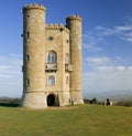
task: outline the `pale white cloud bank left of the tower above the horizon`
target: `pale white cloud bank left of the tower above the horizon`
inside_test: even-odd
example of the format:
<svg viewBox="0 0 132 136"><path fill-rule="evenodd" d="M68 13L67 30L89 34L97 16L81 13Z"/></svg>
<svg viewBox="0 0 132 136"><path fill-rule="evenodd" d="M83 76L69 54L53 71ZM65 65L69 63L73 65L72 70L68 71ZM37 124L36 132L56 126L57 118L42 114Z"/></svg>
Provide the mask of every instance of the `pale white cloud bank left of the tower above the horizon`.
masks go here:
<svg viewBox="0 0 132 136"><path fill-rule="evenodd" d="M0 96L20 96L22 93L22 59L9 54L0 56Z"/></svg>

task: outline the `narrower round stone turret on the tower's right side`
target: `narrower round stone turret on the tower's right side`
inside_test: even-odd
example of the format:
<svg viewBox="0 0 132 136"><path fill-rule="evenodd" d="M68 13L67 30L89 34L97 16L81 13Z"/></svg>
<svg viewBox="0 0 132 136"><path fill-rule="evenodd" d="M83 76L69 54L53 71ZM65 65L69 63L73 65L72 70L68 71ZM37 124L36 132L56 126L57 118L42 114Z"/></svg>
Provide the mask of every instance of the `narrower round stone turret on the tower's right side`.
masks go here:
<svg viewBox="0 0 132 136"><path fill-rule="evenodd" d="M69 29L70 62L73 72L70 73L70 97L76 100L77 104L82 104L81 95L81 18L70 15L66 19L66 25Z"/></svg>

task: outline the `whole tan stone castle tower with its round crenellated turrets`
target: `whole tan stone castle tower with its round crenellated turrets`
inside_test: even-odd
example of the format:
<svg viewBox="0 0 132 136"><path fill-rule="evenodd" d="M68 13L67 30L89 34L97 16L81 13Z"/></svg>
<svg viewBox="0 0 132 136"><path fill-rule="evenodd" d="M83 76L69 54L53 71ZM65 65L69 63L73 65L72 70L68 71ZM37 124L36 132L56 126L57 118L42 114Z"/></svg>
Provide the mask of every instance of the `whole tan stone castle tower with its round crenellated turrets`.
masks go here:
<svg viewBox="0 0 132 136"><path fill-rule="evenodd" d="M23 7L22 106L45 108L82 104L81 19L46 24L42 4Z"/></svg>

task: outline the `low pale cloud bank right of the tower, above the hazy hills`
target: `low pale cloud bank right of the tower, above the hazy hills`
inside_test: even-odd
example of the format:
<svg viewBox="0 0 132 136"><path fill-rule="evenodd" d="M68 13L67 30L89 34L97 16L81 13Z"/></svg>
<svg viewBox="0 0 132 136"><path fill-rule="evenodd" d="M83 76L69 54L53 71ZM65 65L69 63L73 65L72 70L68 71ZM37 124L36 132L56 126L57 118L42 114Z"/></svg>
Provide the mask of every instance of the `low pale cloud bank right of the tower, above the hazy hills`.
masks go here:
<svg viewBox="0 0 132 136"><path fill-rule="evenodd" d="M88 69L82 72L84 92L132 90L132 66L124 66L122 62L120 56L87 57L84 66Z"/></svg>

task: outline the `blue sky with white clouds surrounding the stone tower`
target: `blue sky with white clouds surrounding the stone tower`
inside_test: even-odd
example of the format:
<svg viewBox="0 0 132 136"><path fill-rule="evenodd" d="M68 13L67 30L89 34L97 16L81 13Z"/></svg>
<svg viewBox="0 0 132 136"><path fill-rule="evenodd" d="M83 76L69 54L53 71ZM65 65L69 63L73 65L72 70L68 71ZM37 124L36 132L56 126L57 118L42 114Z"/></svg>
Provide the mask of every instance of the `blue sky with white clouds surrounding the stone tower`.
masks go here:
<svg viewBox="0 0 132 136"><path fill-rule="evenodd" d="M22 7L46 8L46 23L82 18L82 94L132 92L132 0L1 0L0 96L22 95Z"/></svg>

